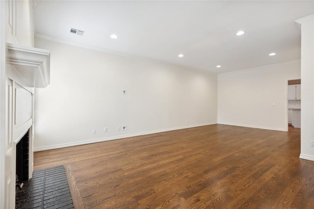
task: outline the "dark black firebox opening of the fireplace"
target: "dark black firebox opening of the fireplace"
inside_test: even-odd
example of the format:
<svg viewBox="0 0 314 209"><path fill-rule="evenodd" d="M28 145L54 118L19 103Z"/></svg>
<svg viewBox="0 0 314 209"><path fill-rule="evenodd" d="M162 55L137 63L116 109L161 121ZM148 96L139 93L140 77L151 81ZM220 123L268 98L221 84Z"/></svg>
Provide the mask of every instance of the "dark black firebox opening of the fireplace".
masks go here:
<svg viewBox="0 0 314 209"><path fill-rule="evenodd" d="M29 165L29 130L16 144L16 182L21 186L23 181L28 180Z"/></svg>

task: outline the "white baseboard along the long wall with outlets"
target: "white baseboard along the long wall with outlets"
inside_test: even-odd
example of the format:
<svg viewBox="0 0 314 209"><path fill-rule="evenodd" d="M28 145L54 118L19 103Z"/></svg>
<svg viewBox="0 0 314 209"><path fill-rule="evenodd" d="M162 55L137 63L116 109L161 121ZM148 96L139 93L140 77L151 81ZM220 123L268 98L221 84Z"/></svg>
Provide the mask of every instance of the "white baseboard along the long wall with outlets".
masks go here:
<svg viewBox="0 0 314 209"><path fill-rule="evenodd" d="M92 140L79 141L79 142L73 142L73 143L65 143L65 144L58 144L58 145L52 145L52 146L43 146L43 147L34 148L34 152L44 151L44 150L49 150L49 149L57 149L57 148L69 147L69 146L90 144L90 143L96 143L96 142L102 142L102 141L109 141L109 140L115 140L115 139L124 139L124 138L129 138L129 137L138 137L138 136L142 136L142 135L156 134L156 133L161 133L161 132L166 132L166 131L175 131L175 130L180 130L180 129L194 128L194 127L213 125L213 124L217 124L217 122L204 123L204 124L191 125L191 126L183 126L183 127L176 127L176 128L168 128L168 129L162 129L162 130L157 130L157 131L148 131L148 132L137 133L137 134L122 135L122 136L117 136L117 137L108 137L108 138L102 138L102 139L92 139Z"/></svg>

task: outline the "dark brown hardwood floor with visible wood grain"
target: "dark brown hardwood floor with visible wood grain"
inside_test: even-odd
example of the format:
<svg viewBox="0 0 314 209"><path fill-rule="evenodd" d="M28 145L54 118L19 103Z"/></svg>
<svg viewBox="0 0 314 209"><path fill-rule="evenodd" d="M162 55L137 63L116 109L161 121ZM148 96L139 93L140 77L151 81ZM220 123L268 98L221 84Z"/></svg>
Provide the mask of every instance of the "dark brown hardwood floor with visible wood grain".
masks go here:
<svg viewBox="0 0 314 209"><path fill-rule="evenodd" d="M36 152L34 168L65 165L83 208L313 209L299 155L300 129L209 125Z"/></svg>

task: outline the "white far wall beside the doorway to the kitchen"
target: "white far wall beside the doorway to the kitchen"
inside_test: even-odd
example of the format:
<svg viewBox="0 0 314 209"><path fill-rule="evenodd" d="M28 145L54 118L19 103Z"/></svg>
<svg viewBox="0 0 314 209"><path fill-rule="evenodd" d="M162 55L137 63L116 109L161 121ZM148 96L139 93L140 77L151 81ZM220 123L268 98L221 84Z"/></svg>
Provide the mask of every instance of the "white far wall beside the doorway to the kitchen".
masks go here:
<svg viewBox="0 0 314 209"><path fill-rule="evenodd" d="M287 81L300 78L300 61L219 74L218 123L286 131Z"/></svg>

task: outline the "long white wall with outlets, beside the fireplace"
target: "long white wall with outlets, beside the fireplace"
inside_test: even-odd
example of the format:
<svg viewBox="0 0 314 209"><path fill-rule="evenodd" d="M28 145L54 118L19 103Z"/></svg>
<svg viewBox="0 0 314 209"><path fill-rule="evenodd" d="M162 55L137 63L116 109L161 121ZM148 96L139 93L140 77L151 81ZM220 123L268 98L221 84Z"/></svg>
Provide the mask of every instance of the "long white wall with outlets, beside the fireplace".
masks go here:
<svg viewBox="0 0 314 209"><path fill-rule="evenodd" d="M51 51L51 84L35 90L35 150L217 122L216 75L39 38L35 46Z"/></svg>

